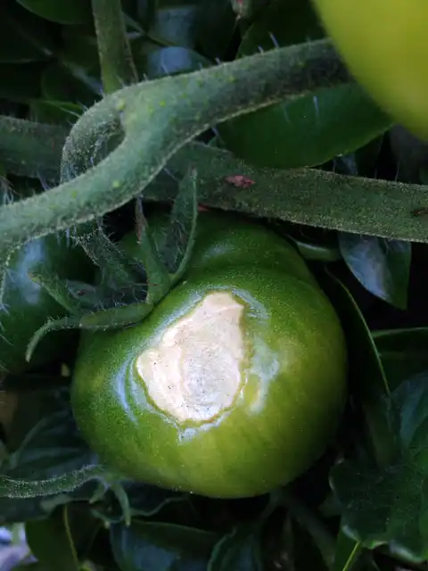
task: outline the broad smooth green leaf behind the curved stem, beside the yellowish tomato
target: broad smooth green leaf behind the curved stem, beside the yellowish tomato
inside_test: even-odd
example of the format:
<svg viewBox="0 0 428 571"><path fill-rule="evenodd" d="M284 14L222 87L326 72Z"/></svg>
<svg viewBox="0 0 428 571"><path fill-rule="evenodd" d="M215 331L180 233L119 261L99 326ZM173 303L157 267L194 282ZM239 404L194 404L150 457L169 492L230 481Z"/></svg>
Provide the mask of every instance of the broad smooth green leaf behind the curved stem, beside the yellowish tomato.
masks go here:
<svg viewBox="0 0 428 571"><path fill-rule="evenodd" d="M240 4L242 4L240 2ZM243 3L245 4L245 3ZM239 56L322 37L309 0L276 0L248 29ZM290 169L329 161L391 125L357 84L331 87L218 126L229 151L260 167Z"/></svg>

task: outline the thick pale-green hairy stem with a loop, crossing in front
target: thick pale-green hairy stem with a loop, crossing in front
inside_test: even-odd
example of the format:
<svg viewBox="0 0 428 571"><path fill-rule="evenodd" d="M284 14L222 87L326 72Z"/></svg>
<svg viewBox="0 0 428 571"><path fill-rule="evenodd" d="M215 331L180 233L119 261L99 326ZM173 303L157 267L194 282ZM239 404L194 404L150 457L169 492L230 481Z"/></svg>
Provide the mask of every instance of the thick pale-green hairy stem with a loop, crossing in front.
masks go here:
<svg viewBox="0 0 428 571"><path fill-rule="evenodd" d="M108 95L71 129L62 155L62 180L67 182L0 209L2 248L7 251L127 203L178 149L219 121L348 79L333 46L324 40ZM122 142L96 164L100 138L119 128Z"/></svg>

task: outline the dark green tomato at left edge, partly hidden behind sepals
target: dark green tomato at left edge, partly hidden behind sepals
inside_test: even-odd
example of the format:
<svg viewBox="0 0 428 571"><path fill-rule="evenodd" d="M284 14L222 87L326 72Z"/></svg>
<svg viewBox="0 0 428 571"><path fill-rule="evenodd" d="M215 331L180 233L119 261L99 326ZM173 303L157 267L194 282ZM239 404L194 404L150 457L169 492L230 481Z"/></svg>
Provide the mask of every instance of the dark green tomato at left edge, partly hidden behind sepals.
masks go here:
<svg viewBox="0 0 428 571"><path fill-rule="evenodd" d="M49 318L67 314L29 276L29 272L40 267L69 279L84 279L91 274L86 254L80 248L72 246L64 235L37 238L13 252L7 268L0 310L0 369L4 372L18 373L29 366L44 364L61 352L63 334L50 335L37 346L30 363L25 360L27 346L37 329L45 325Z"/></svg>

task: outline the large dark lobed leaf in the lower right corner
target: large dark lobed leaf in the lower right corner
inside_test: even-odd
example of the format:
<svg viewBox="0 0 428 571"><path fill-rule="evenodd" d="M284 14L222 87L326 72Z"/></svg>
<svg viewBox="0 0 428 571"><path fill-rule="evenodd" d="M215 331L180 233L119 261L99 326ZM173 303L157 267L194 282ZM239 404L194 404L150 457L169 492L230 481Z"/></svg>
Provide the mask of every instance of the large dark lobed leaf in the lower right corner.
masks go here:
<svg viewBox="0 0 428 571"><path fill-rule="evenodd" d="M394 458L379 469L346 460L333 468L333 491L342 503L347 534L374 549L386 544L411 561L428 559L428 392L426 371L383 401Z"/></svg>

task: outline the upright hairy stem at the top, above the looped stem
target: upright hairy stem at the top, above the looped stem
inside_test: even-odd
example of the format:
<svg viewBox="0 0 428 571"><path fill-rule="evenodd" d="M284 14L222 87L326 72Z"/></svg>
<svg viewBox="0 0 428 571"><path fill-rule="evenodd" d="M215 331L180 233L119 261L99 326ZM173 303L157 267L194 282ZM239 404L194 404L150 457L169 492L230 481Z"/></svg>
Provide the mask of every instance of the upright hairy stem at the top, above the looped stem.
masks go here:
<svg viewBox="0 0 428 571"><path fill-rule="evenodd" d="M104 93L138 81L120 0L92 0Z"/></svg>

